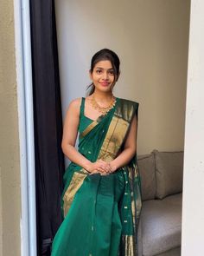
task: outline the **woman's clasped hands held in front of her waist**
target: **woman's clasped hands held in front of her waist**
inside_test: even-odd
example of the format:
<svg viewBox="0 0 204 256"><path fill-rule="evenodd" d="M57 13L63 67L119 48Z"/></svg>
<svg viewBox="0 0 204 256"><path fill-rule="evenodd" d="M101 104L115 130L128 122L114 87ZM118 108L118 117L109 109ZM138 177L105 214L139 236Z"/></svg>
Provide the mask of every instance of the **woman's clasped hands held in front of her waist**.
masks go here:
<svg viewBox="0 0 204 256"><path fill-rule="evenodd" d="M114 168L112 167L110 162L103 161L99 159L98 161L92 162L88 169L90 175L92 174L101 174L108 175L114 172Z"/></svg>

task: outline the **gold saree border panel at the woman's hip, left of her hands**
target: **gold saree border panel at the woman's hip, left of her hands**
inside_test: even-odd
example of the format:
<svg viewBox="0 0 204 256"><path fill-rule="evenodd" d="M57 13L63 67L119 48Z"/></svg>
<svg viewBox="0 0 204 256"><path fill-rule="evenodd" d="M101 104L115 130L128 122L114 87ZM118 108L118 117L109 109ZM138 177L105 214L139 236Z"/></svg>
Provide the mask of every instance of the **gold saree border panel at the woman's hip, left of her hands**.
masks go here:
<svg viewBox="0 0 204 256"><path fill-rule="evenodd" d="M64 217L67 215L69 208L71 207L71 204L73 202L73 198L83 184L83 181L85 180L87 174L88 172L84 168L81 169L80 172L74 172L72 181L70 182L69 186L67 187L67 191L63 196Z"/></svg>

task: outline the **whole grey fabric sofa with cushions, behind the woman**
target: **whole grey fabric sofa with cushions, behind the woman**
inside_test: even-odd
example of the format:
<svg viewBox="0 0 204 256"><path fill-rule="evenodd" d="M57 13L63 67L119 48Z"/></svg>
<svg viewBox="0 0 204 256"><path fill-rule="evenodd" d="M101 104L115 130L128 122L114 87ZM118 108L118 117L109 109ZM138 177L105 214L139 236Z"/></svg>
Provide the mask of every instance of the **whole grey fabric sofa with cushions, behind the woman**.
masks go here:
<svg viewBox="0 0 204 256"><path fill-rule="evenodd" d="M137 156L143 207L138 226L139 256L181 255L183 151Z"/></svg>

